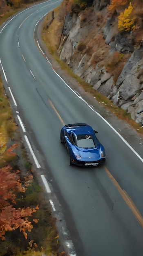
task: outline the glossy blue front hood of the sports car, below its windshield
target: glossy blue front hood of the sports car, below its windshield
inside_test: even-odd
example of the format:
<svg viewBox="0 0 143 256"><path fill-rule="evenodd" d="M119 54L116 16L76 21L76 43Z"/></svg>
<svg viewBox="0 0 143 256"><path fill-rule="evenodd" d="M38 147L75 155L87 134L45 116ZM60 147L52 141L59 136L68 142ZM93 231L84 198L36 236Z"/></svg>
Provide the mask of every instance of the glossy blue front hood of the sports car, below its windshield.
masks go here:
<svg viewBox="0 0 143 256"><path fill-rule="evenodd" d="M78 148L79 154L82 158L99 158L100 150L96 148Z"/></svg>

